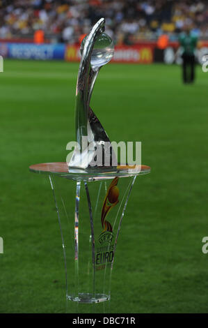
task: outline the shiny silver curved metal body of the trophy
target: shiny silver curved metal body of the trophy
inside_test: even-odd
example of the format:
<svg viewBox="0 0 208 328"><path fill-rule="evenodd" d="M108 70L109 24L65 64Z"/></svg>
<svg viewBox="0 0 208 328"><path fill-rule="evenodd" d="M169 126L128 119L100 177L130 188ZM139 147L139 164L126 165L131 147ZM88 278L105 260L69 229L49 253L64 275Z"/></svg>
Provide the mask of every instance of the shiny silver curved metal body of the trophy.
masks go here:
<svg viewBox="0 0 208 328"><path fill-rule="evenodd" d="M93 47L96 40L100 37L102 38L102 33L105 29L104 24L105 20L101 18L84 39L82 43L83 46L81 45L82 57L77 77L75 104L75 128L78 146L75 147L70 163L68 164L69 169L70 167L85 170L95 169L95 165L90 165L90 162L92 162L95 157L97 147L102 148L104 156L109 156L109 152L108 155L105 154L104 148L105 142L110 143L109 137L106 131L104 131L99 119L90 108L90 98L99 70L113 57L113 52L111 51L109 52L109 58L105 61L98 61L97 65L93 65L92 63ZM97 58L99 57L102 57L102 52L97 54ZM112 152L113 151L111 151L111 156ZM112 163L111 158L109 163ZM101 166L104 166L104 163Z"/></svg>

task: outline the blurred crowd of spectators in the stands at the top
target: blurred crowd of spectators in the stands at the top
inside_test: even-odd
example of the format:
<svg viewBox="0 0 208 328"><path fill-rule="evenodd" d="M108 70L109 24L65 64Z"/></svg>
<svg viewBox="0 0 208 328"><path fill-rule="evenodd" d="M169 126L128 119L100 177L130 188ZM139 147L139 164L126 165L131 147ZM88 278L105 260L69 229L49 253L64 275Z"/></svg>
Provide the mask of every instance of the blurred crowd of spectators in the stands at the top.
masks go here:
<svg viewBox="0 0 208 328"><path fill-rule="evenodd" d="M56 42L79 43L100 17L116 43L134 44L189 24L208 38L207 0L0 0L0 38L30 38L42 29Z"/></svg>

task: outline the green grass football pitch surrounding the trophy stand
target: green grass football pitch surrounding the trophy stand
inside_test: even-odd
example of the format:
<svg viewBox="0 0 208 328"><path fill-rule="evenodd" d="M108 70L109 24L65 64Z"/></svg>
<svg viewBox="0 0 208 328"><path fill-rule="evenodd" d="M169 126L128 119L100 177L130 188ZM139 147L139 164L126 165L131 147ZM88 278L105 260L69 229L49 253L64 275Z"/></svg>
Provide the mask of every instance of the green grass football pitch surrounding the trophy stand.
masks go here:
<svg viewBox="0 0 208 328"><path fill-rule="evenodd" d="M74 140L78 64L5 61L0 75L0 312L64 313L61 236L49 181L29 165L65 161ZM91 107L111 140L141 141L142 163L122 223L112 313L207 312L208 73L109 64Z"/></svg>

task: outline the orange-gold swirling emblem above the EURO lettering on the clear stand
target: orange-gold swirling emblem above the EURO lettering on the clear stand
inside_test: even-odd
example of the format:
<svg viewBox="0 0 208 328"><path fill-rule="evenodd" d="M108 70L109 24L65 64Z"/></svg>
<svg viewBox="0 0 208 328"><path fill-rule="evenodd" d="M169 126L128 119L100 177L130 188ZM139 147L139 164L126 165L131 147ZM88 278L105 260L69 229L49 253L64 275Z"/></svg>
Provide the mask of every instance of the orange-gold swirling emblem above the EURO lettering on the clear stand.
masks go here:
<svg viewBox="0 0 208 328"><path fill-rule="evenodd" d="M104 232L105 231L113 232L111 223L109 223L109 221L106 221L105 218L106 215L109 213L109 211L113 209L113 207L115 207L115 205L118 204L119 202L118 200L119 189L117 186L118 179L119 179L118 177L113 179L104 197L104 202L102 205L102 216L101 216L102 228L104 228L103 230Z"/></svg>

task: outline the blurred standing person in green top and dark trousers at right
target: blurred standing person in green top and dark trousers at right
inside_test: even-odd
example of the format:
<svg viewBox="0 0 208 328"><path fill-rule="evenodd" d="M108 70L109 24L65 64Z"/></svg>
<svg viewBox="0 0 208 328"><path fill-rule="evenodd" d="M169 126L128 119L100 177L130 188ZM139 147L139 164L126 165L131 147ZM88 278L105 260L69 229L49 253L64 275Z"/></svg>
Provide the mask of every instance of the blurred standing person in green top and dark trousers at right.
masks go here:
<svg viewBox="0 0 208 328"><path fill-rule="evenodd" d="M189 27L179 36L179 43L182 47L182 70L184 83L192 83L195 80L195 48L198 38L191 33Z"/></svg>

